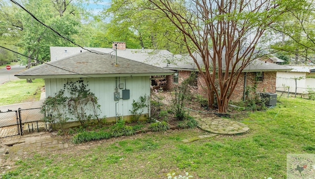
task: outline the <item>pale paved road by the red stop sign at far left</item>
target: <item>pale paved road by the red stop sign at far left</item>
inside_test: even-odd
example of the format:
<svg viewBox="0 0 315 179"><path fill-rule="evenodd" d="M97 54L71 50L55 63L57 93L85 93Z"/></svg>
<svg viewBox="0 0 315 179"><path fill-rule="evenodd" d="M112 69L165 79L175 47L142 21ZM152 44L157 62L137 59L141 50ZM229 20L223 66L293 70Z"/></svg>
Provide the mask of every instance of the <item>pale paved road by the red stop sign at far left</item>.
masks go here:
<svg viewBox="0 0 315 179"><path fill-rule="evenodd" d="M10 70L5 69L5 67L0 69L0 85L9 80L18 79L14 75L26 69L25 66L19 64L14 64L10 66L11 66Z"/></svg>

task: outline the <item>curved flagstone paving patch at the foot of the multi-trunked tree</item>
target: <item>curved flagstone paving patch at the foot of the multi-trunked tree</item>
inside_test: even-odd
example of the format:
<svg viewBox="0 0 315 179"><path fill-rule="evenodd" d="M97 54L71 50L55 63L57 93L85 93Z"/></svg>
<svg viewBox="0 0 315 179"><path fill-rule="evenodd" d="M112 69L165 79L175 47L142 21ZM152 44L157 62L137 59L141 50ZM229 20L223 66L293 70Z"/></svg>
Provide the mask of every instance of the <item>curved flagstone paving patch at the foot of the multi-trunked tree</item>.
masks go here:
<svg viewBox="0 0 315 179"><path fill-rule="evenodd" d="M250 131L248 125L241 122L217 117L204 117L199 114L191 115L198 121L198 127L208 132L236 135Z"/></svg>

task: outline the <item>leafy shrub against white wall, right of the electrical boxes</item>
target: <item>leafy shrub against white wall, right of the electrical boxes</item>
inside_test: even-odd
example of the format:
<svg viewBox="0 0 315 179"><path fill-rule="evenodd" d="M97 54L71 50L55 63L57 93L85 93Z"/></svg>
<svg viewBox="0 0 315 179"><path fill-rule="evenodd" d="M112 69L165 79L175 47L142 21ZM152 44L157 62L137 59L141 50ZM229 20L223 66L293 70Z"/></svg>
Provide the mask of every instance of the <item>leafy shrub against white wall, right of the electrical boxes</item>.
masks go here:
<svg viewBox="0 0 315 179"><path fill-rule="evenodd" d="M147 108L149 97L145 94L144 96L140 96L137 101L133 99L132 102L132 110L129 110L132 114L132 121L138 121L143 114L145 108Z"/></svg>

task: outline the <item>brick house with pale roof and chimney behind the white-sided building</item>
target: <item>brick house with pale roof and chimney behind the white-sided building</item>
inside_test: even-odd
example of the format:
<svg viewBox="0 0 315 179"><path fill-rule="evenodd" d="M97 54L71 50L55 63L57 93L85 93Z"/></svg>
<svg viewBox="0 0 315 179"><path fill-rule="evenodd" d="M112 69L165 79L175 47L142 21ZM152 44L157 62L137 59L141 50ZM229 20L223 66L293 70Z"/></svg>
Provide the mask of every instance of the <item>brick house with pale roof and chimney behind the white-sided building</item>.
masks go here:
<svg viewBox="0 0 315 179"><path fill-rule="evenodd" d="M184 79L188 78L190 74L198 75L196 79L195 91L199 94L205 94L205 82L199 71L189 55L174 55L167 50L152 50L152 49L127 49L125 42L113 42L112 48L85 48L87 50L96 50L106 54L111 54L115 57L117 44L117 57L123 57L130 60L136 60L147 64L163 67L165 69L175 71L174 75L152 75L151 85L165 90L172 90L174 86L180 84ZM59 60L69 57L74 54L85 52L80 47L51 47L51 60ZM255 53L259 53L255 51ZM200 56L194 53L199 61L202 63ZM236 89L233 92L231 100L243 100L246 87L257 84L256 92L275 92L276 91L276 73L277 71L289 70L288 67L270 63L257 59L245 68L243 71ZM258 79L259 81L256 81ZM157 82L158 81L158 82ZM162 83L161 83L162 82Z"/></svg>

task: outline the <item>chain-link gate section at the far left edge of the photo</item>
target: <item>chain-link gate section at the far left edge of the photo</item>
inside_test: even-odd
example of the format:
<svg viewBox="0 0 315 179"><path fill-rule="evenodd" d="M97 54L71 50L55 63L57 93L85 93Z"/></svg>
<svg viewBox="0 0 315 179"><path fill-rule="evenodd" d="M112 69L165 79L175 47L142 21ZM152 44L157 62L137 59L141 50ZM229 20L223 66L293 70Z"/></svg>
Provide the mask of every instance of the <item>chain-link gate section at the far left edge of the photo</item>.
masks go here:
<svg viewBox="0 0 315 179"><path fill-rule="evenodd" d="M0 138L22 134L21 121L17 111L0 112Z"/></svg>

